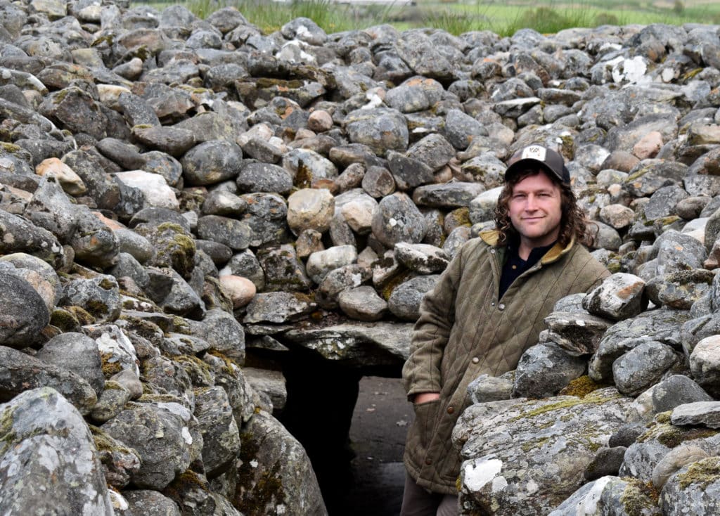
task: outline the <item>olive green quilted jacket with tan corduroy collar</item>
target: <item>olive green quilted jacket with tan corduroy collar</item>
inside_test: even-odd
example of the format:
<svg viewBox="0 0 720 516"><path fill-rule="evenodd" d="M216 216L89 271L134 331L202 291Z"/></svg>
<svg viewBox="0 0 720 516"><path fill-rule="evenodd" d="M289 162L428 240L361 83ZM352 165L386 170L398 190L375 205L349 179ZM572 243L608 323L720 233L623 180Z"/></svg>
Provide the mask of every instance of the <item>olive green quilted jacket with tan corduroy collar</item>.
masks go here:
<svg viewBox="0 0 720 516"><path fill-rule="evenodd" d="M432 492L457 494L461 461L451 433L469 404L468 384L481 374L515 369L538 342L558 299L610 275L582 245L555 245L498 299L504 254L498 232L482 232L462 247L420 305L402 380L410 399L420 392L439 392L440 399L414 406L404 461L410 476Z"/></svg>

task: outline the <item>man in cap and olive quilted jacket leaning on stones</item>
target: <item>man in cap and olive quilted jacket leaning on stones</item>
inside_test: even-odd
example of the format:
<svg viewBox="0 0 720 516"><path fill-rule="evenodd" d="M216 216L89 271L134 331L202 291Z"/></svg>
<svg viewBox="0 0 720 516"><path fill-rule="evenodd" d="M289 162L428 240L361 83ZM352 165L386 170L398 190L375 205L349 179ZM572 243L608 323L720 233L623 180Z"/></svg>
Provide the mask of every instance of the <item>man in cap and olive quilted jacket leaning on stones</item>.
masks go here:
<svg viewBox="0 0 720 516"><path fill-rule="evenodd" d="M581 245L588 220L552 149L531 145L510 158L495 225L459 250L420 305L402 370L415 409L402 516L457 514L461 461L451 433L467 385L515 369L555 302L610 274Z"/></svg>

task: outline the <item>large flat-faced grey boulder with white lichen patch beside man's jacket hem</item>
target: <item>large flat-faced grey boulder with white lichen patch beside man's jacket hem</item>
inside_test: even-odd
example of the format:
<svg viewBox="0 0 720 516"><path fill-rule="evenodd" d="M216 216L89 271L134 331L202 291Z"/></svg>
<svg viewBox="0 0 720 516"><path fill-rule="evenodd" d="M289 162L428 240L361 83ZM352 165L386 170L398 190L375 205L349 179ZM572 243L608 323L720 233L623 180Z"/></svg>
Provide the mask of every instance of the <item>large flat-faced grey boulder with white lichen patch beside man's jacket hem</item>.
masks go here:
<svg viewBox="0 0 720 516"><path fill-rule="evenodd" d="M582 473L595 456L595 448L588 443L607 442L609 434L621 425L626 404L628 399L614 389L601 389L583 399L513 399L465 409L452 436L465 459L460 471L460 502L464 507L490 507L502 496L502 504L496 506L498 514L517 513L521 507L549 513L582 483ZM583 438L574 440L573 435ZM521 463L523 474L518 474L516 467ZM552 480L545 476L549 463L554 468ZM566 479L562 485L567 487L559 492L561 478ZM492 489L493 482L505 487ZM529 493L528 484L548 489Z"/></svg>

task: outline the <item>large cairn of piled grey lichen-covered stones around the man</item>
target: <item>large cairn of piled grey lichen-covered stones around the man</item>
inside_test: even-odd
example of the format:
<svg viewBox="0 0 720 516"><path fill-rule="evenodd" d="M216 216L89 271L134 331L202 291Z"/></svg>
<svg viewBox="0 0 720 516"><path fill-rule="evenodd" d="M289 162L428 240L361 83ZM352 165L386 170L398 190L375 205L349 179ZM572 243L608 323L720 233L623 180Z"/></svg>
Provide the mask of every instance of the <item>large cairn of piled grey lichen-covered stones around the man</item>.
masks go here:
<svg viewBox="0 0 720 516"><path fill-rule="evenodd" d="M0 513L326 514L251 356L398 374L543 142L613 276L472 384L462 512L720 514L719 27L0 19Z"/></svg>

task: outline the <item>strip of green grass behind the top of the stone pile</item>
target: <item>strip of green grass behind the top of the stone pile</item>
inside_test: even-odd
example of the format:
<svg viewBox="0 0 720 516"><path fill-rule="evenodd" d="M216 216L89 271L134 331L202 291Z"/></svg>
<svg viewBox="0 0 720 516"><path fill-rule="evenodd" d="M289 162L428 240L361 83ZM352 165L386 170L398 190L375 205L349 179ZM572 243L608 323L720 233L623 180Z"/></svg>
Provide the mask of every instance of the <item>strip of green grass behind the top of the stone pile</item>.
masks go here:
<svg viewBox="0 0 720 516"><path fill-rule="evenodd" d="M390 23L398 30L433 27L454 35L490 30L500 36L522 28L544 34L572 27L603 24L720 23L720 4L703 0L416 0L415 5L351 5L331 0L187 0L150 3L163 9L184 4L204 18L225 6L235 6L266 34L298 17L312 19L325 32L358 30Z"/></svg>

